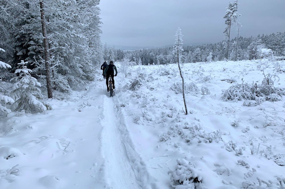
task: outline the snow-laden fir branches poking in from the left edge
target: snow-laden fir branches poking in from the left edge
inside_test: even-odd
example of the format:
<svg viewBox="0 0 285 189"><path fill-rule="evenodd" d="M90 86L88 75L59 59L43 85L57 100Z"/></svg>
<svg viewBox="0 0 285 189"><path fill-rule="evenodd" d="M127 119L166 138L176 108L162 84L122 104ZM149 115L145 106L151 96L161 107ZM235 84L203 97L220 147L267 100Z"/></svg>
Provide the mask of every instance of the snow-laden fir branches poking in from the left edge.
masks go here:
<svg viewBox="0 0 285 189"><path fill-rule="evenodd" d="M0 52L5 52L4 49L0 48ZM0 60L0 68L11 68L9 64L6 64L5 62L2 62ZM0 79L1 81L1 79ZM7 104L12 104L14 100L10 98L9 96L5 95L7 91L0 85L0 112L3 112L4 114L11 113L11 110L6 108Z"/></svg>

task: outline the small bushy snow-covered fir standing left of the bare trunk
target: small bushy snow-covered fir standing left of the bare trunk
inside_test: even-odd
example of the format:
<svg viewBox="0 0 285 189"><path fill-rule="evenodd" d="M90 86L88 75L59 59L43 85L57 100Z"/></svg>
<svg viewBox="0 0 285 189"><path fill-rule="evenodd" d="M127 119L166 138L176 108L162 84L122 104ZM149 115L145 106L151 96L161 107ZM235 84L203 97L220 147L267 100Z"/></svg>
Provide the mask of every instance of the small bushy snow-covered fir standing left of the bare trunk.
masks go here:
<svg viewBox="0 0 285 189"><path fill-rule="evenodd" d="M51 106L41 99L43 98L41 91L36 86L41 86L36 78L30 75L32 70L25 66L27 62L21 60L21 69L17 69L15 74L19 76L14 77L11 81L16 83L13 85L11 92L11 97L16 101L12 104L11 108L15 111L25 110L27 113L44 112L47 109L51 110Z"/></svg>

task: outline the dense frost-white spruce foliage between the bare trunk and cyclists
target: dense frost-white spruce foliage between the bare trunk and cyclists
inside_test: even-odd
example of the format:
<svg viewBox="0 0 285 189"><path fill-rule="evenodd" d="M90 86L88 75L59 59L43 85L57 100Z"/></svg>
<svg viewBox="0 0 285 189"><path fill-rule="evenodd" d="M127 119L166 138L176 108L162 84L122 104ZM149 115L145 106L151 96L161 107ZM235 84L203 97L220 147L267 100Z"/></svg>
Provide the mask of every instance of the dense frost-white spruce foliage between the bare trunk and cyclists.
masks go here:
<svg viewBox="0 0 285 189"><path fill-rule="evenodd" d="M45 3L46 9L58 7L46 15L50 18L47 28L52 32L50 35L53 34L54 54L62 58L57 73L66 78L70 87L92 81L93 64L100 63L96 57L100 51L101 33L99 0L66 0L63 4L47 0Z"/></svg>

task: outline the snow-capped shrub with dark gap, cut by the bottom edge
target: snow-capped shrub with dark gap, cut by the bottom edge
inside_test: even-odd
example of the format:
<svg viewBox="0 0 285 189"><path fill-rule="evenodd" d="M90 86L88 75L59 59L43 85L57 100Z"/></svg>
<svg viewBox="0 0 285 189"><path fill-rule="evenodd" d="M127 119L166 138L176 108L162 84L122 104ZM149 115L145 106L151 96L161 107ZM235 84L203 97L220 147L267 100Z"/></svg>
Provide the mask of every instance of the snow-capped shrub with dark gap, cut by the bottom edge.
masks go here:
<svg viewBox="0 0 285 189"><path fill-rule="evenodd" d="M201 189L202 176L195 168L195 164L186 159L177 159L176 169L168 171L170 184L176 189Z"/></svg>

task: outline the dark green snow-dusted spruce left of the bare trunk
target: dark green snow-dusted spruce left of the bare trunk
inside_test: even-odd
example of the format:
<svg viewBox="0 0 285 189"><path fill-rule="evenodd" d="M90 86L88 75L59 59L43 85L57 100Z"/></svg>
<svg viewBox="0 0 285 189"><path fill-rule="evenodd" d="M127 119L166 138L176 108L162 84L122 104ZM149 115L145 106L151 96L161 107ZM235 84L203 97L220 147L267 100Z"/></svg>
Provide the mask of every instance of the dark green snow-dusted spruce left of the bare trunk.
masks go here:
<svg viewBox="0 0 285 189"><path fill-rule="evenodd" d="M42 35L40 30L40 14L37 5L31 0L3 0L7 5L5 11L10 20L7 28L11 39L11 50L14 55L11 60L13 71L17 69L18 62L24 60L28 62L29 69L34 56L42 54Z"/></svg>

